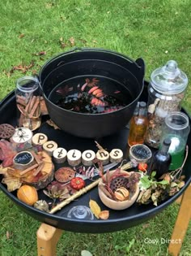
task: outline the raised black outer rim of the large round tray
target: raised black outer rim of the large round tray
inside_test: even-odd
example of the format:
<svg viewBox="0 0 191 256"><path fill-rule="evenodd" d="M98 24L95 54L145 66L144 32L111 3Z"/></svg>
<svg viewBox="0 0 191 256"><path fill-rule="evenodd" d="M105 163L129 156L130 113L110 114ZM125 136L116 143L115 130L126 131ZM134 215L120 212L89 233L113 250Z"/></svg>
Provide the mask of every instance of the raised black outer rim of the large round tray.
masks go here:
<svg viewBox="0 0 191 256"><path fill-rule="evenodd" d="M11 91L11 93L8 93L6 95L6 98L2 99L2 102L0 102L0 108L2 107L2 105L6 102L11 101L12 98L15 97L15 92ZM186 111L185 111L186 112ZM189 115L186 112L187 115ZM190 117L189 117L190 119ZM11 199L11 201L15 202L17 206L19 206L19 208L21 208L23 211L25 211L28 215L32 215L32 217L34 219L39 220L39 218L36 218L35 214L38 214L40 216L40 219L44 219L45 223L51 224L52 226L54 226L55 228L60 228L63 230L67 230L67 231L72 231L72 232L88 232L91 233L90 231L83 231L83 224L88 225L90 224L92 227L92 224L96 227L96 230L98 229L98 232L94 232L94 230L92 230L92 233L101 233L101 232L113 232L113 231L120 231L122 229L125 228L130 228L135 226L136 224L142 223L144 222L146 219L151 219L152 217L154 217L155 215L159 214L159 212L161 212L162 210L164 210L167 206L169 206L170 204L172 204L172 202L175 202L176 199L178 197L180 197L180 195L182 195L182 193L185 192L185 189L188 188L189 184L191 183L191 176L189 177L189 179L186 181L185 186L180 189L180 191L178 193L176 193L174 196L168 198L166 201L162 202L159 204L159 206L154 206L152 209L150 210L145 210L140 214L137 215L133 215L133 216L128 216L125 218L120 218L120 219L107 219L107 220L100 220L100 219L94 219L93 221L90 220L79 220L79 219L68 219L59 215L53 215L53 214L49 214L46 213L44 211L38 210L36 208L34 208L33 206L28 206L27 204L19 201L19 199L17 197L15 197L14 194L10 193L7 191L7 189L5 188L4 185L2 185L2 183L0 183L0 189L2 190L3 193L6 194L7 197L9 197ZM34 213L34 215L33 215ZM140 221L141 220L141 221ZM139 221L139 223L136 223L137 221ZM64 223L64 227L60 227L59 223ZM133 225L131 225L131 223L129 223L128 225L124 225L125 223L128 222L132 222ZM122 225L118 225L117 223L122 223ZM70 227L71 225L71 227ZM82 225L81 228L78 229L78 231L74 230L74 227L77 225ZM103 229L102 231L100 230L100 227L106 225L106 229ZM110 226L112 225L112 226ZM116 227L114 227L114 225ZM111 227L110 230L107 230L107 226ZM93 229L93 228L92 228Z"/></svg>

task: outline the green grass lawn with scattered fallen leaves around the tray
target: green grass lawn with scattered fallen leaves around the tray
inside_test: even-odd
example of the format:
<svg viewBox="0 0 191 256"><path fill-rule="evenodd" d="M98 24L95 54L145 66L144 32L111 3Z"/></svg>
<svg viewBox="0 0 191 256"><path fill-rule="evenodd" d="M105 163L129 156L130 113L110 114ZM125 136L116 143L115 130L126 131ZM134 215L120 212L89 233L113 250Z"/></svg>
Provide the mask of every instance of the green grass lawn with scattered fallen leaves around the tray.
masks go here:
<svg viewBox="0 0 191 256"><path fill-rule="evenodd" d="M146 63L146 79L156 67L174 59L190 80L190 9L190 0L2 0L0 99L15 89L17 78L25 75L19 71L10 74L12 67L33 61L34 67L26 74L39 72L47 59L70 50L71 37L74 37L74 47L100 47L132 59L142 57ZM61 46L61 37L65 48ZM40 51L47 53L35 55ZM189 85L183 105L189 112L190 99ZM40 223L21 212L2 193L0 201L0 255L35 256L36 230ZM168 243L146 244L145 238L169 239L177 210L178 206L169 206L148 223L121 232L101 235L63 232L57 255L79 256L82 249L96 256L126 255L129 244L133 245L128 255L168 255ZM190 239L189 226L180 255L191 254Z"/></svg>

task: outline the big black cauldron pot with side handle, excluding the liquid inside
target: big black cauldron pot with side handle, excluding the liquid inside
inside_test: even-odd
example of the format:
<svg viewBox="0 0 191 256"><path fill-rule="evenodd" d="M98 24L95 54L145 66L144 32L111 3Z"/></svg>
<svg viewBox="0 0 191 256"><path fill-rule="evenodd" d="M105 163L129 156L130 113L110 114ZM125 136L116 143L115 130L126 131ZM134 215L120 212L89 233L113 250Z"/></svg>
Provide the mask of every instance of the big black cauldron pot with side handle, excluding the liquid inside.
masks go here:
<svg viewBox="0 0 191 256"><path fill-rule="evenodd" d="M104 49L74 49L50 59L39 74L49 116L59 128L77 137L100 138L119 132L131 119L144 86L145 65ZM101 114L67 111L50 99L53 89L74 77L105 77L129 91L132 101L120 110ZM109 86L109 85L108 85Z"/></svg>

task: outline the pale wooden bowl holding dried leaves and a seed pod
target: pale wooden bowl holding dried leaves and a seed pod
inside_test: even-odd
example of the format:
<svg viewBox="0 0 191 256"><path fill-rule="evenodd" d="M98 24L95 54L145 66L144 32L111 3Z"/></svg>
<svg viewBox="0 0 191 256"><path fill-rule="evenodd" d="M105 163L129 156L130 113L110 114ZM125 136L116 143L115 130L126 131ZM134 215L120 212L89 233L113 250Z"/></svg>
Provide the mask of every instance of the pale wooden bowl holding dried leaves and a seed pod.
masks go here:
<svg viewBox="0 0 191 256"><path fill-rule="evenodd" d="M112 175L114 171L110 171L110 174ZM132 172L128 172L128 171L121 171L121 173L124 173L125 175L130 176L130 174ZM104 175L106 176L106 175ZM105 206L108 206L108 208L112 209L112 210L124 210L129 208L130 206L132 206L134 204L134 202L136 201L136 199L138 198L138 193L139 193L139 185L138 183L135 184L136 189L133 195L131 195L131 197L128 200L125 201L115 201L110 199L109 197L106 196L106 194L100 189L100 185L103 185L103 181L100 180L100 183L98 185L98 193L100 196L100 200L101 202L104 203Z"/></svg>

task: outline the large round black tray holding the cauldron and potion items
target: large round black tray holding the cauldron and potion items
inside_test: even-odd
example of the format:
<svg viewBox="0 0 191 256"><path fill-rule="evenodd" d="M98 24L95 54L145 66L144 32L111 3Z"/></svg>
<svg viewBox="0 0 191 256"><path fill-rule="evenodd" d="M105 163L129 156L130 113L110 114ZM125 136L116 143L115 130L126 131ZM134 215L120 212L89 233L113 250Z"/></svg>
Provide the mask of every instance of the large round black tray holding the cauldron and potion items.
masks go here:
<svg viewBox="0 0 191 256"><path fill-rule="evenodd" d="M142 93L141 99L146 100L146 89ZM15 126L16 124L16 105L15 105L15 94L11 92L1 103L0 103L0 124L8 123ZM104 124L103 124L104 125ZM92 139L83 139L79 137L73 137L66 132L61 130L55 130L50 127L45 122L41 125L40 129L36 132L44 132L49 140L56 141L58 146L64 147L66 150L78 149L78 150L97 150L95 141ZM100 140L100 144L103 145L108 151L119 148L124 151L125 155L128 156L127 147L127 137L128 128L124 128L115 135L104 137ZM188 145L191 147L191 134L189 135ZM33 218L39 220L40 222L47 223L56 228L64 229L72 232L89 232L89 233L101 233L101 232L114 232L125 228L130 228L139 223L145 222L147 219L151 219L156 214L158 214L165 207L169 206L172 202L176 200L177 197L185 191L191 182L190 174L191 157L187 159L184 168L185 175L185 186L176 193L175 196L169 197L168 200L162 202L159 206L149 205L138 205L134 203L133 206L126 210L109 210L110 216L107 220L93 219L93 220L79 220L79 219L68 219L67 213L71 207L77 205L88 206L90 198L98 202L102 210L108 209L102 204L97 193L97 188L92 189L83 196L79 197L77 201L71 202L68 206L62 208L62 210L57 211L55 214L45 213L41 210L37 210L32 206L28 206L15 196L14 193L10 193L6 189L6 185L0 182L0 189L7 197L11 198L13 202L21 210L31 215ZM56 168L59 165L56 166ZM2 175L0 176L0 181L2 180ZM44 193L39 191L39 197L42 199Z"/></svg>

